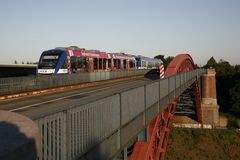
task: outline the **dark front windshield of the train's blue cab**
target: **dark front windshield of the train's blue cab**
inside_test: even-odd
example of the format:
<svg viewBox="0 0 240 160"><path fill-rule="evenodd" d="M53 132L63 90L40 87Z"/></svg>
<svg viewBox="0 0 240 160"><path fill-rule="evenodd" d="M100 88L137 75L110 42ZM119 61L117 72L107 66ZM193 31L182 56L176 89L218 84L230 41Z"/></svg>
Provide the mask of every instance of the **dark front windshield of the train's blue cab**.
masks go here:
<svg viewBox="0 0 240 160"><path fill-rule="evenodd" d="M43 53L39 63L39 69L54 69L60 56L60 53Z"/></svg>

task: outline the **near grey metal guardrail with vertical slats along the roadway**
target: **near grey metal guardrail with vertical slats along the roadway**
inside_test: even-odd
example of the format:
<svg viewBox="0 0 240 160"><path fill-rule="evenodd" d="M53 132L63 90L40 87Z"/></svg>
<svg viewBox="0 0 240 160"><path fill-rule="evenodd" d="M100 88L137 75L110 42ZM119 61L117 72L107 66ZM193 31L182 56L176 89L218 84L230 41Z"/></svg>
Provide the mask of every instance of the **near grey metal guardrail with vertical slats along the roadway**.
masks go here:
<svg viewBox="0 0 240 160"><path fill-rule="evenodd" d="M32 117L41 132L39 159L112 158L203 73L181 73Z"/></svg>

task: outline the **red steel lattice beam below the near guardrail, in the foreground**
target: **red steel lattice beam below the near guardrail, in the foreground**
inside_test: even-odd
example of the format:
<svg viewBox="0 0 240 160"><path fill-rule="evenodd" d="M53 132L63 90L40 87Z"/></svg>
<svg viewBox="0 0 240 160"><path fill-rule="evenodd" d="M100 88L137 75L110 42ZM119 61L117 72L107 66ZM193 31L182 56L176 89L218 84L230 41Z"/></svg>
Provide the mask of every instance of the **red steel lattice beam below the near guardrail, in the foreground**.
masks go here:
<svg viewBox="0 0 240 160"><path fill-rule="evenodd" d="M131 160L164 160L175 110L174 101L157 116L150 142L137 142Z"/></svg>

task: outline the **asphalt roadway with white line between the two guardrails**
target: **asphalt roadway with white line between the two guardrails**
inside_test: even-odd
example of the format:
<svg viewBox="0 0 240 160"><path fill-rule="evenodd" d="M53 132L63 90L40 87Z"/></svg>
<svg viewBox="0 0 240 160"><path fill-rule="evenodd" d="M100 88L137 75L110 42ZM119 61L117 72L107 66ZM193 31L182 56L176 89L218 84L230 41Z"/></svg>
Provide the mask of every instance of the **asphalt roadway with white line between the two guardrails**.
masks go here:
<svg viewBox="0 0 240 160"><path fill-rule="evenodd" d="M35 119L47 113L64 110L74 105L86 104L88 102L114 95L123 90L142 86L151 82L147 78L130 78L115 80L111 82L100 82L94 86L85 86L77 89L66 89L63 91L30 95L14 99L0 100L0 110L12 111Z"/></svg>

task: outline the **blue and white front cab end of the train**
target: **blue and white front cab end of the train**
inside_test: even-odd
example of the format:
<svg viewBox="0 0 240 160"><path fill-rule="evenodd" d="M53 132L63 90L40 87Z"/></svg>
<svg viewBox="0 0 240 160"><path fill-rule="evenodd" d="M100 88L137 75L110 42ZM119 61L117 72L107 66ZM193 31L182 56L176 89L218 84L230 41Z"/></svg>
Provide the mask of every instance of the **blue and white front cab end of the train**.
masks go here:
<svg viewBox="0 0 240 160"><path fill-rule="evenodd" d="M66 74L69 72L67 63L65 50L52 49L44 51L38 63L37 74Z"/></svg>

